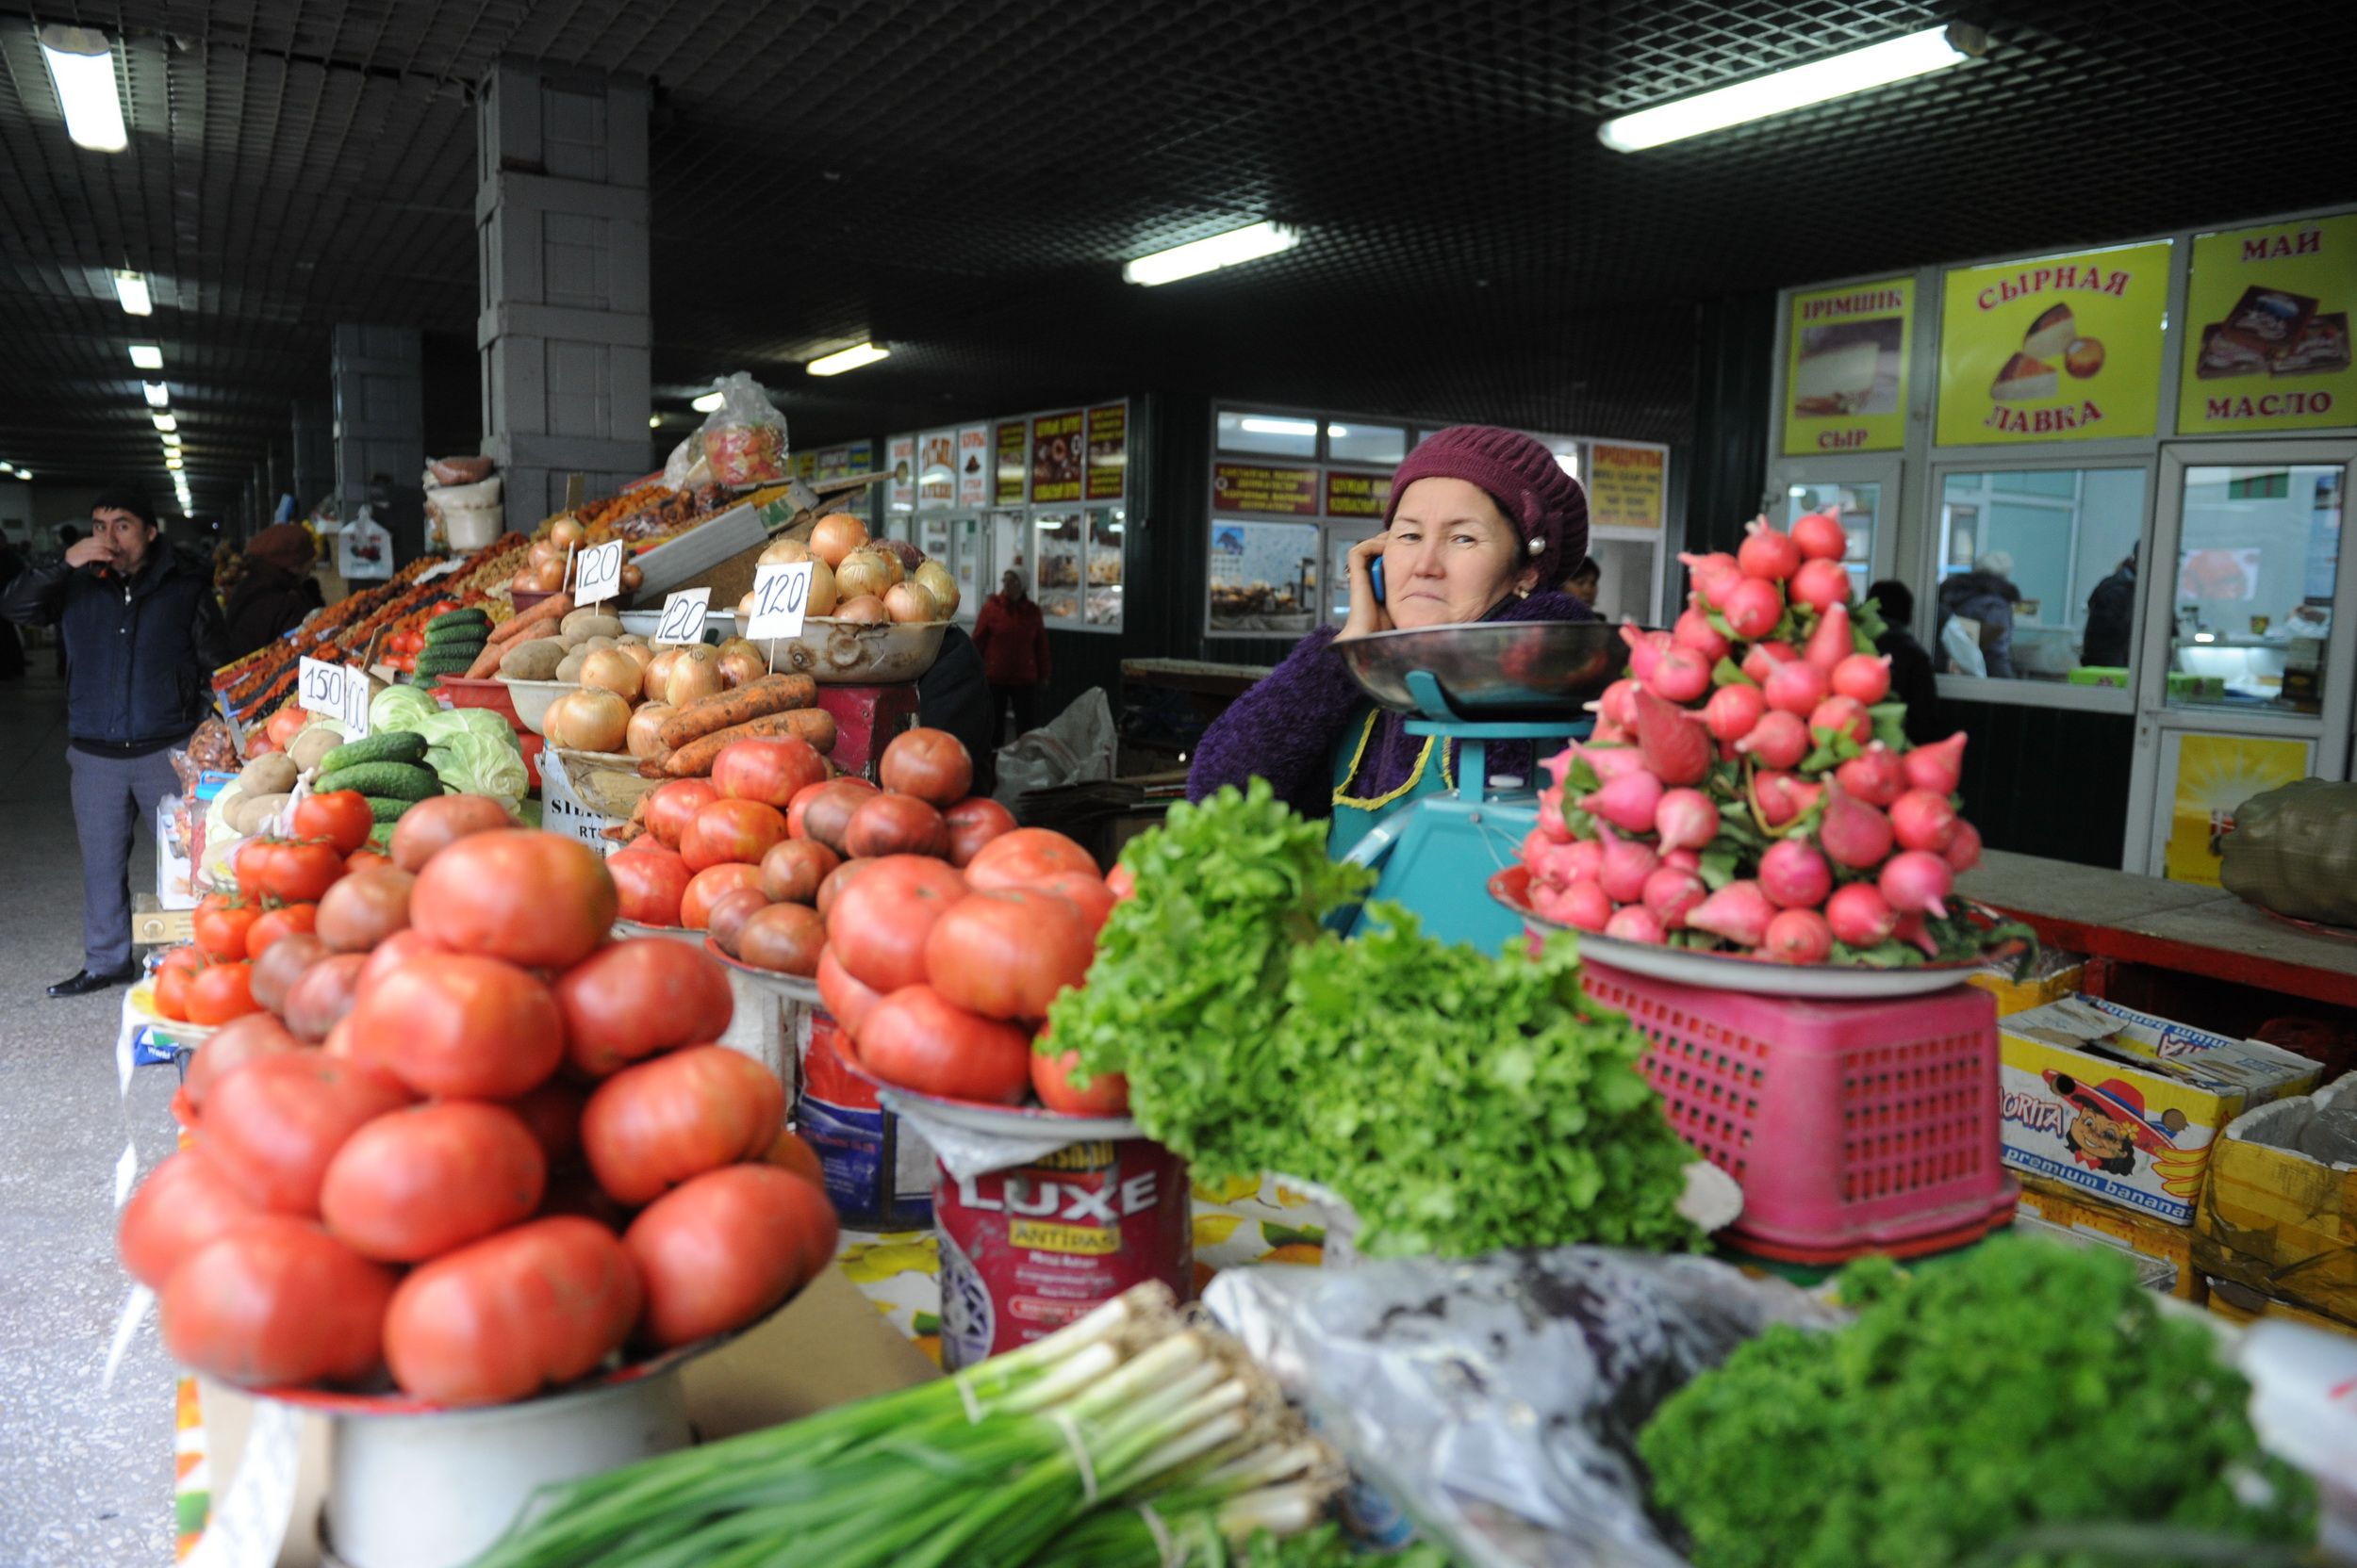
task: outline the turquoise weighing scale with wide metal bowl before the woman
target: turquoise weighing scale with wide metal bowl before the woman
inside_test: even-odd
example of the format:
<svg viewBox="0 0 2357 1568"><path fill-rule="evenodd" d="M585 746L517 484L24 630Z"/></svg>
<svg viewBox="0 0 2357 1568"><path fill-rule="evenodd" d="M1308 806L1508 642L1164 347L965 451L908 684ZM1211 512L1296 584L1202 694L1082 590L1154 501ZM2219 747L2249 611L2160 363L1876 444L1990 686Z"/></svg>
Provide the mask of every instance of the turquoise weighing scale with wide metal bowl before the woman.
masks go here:
<svg viewBox="0 0 2357 1568"><path fill-rule="evenodd" d="M1539 782L1492 779L1490 742L1532 742L1544 758L1586 735L1593 718L1584 704L1624 664L1619 631L1607 622L1478 622L1376 631L1334 643L1334 652L1376 706L1412 716L1409 735L1457 742L1457 789L1391 812L1346 859L1376 869L1372 899L1405 904L1435 937L1494 954L1523 923L1490 897L1487 881L1516 862L1539 824ZM1353 911L1351 928L1358 918Z"/></svg>

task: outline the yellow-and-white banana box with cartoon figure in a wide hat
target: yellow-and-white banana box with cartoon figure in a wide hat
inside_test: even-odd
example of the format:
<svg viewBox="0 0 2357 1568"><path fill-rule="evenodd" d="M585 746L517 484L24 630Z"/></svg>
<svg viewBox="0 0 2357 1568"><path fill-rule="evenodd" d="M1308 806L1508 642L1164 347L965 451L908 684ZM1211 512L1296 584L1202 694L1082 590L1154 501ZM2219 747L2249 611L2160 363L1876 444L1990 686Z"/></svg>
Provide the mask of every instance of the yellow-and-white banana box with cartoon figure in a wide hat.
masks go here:
<svg viewBox="0 0 2357 1568"><path fill-rule="evenodd" d="M2006 1163L2192 1224L2211 1142L2246 1109L2303 1095L2319 1067L2095 996L1996 1022Z"/></svg>

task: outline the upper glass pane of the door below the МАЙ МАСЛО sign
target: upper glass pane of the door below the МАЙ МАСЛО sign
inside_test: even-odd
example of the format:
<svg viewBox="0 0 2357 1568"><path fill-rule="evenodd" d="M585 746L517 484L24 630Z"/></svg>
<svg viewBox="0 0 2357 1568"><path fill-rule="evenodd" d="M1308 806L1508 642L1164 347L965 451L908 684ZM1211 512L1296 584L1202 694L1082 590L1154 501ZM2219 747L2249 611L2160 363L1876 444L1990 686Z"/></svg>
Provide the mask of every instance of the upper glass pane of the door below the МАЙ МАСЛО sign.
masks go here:
<svg viewBox="0 0 2357 1568"><path fill-rule="evenodd" d="M2341 504L2338 464L2185 471L2168 706L2322 711Z"/></svg>

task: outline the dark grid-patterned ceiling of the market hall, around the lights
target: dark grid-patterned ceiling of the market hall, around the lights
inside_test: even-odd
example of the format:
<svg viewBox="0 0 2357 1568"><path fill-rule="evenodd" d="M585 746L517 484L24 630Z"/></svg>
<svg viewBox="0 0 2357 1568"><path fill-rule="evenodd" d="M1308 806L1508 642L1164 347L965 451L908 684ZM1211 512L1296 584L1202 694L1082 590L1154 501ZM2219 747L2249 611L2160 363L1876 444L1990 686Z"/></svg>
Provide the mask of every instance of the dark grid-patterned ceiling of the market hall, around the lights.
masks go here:
<svg viewBox="0 0 2357 1568"><path fill-rule="evenodd" d="M1593 137L1940 19L1989 57L1652 153ZM66 139L35 21L127 40L127 153ZM754 370L797 445L1148 388L1676 440L1702 299L2357 195L2348 0L0 5L0 457L163 492L125 358L153 339L214 511L328 396L332 323L462 370L500 54L658 82L658 405ZM1299 250L1120 280L1259 217ZM863 334L893 358L799 372ZM429 438L471 443L471 384L431 386Z"/></svg>

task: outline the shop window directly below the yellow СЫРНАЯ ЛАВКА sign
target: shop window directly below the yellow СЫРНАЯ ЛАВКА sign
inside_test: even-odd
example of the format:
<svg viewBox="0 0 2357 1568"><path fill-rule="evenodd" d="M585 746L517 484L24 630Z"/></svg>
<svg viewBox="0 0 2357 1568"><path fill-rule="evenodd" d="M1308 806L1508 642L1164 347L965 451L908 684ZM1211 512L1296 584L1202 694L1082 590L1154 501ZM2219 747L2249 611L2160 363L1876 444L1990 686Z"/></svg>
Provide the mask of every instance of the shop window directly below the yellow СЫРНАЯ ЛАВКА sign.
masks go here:
<svg viewBox="0 0 2357 1568"><path fill-rule="evenodd" d="M1933 664L1949 676L2128 685L2143 469L1949 473Z"/></svg>

